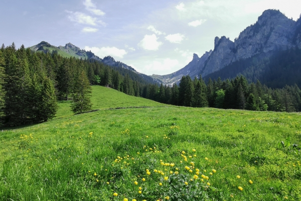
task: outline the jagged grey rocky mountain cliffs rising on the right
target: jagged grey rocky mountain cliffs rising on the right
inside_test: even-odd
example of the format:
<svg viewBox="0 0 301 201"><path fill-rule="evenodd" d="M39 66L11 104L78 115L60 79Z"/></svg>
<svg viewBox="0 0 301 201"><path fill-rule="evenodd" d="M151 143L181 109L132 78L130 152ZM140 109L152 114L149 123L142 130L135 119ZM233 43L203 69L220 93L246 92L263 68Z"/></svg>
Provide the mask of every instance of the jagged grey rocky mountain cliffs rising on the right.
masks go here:
<svg viewBox="0 0 301 201"><path fill-rule="evenodd" d="M301 49L301 20L288 19L278 10L266 10L258 21L242 31L234 42L225 36L216 37L214 50L204 54L208 56L203 55L205 61L200 59L196 62L198 58L194 56L187 66L177 72L162 76L152 75L152 77L165 84L179 82L181 72L183 75L185 73L190 75L192 79L200 74L208 77L233 62L254 55L259 55L258 58L269 57L276 51L291 48Z"/></svg>

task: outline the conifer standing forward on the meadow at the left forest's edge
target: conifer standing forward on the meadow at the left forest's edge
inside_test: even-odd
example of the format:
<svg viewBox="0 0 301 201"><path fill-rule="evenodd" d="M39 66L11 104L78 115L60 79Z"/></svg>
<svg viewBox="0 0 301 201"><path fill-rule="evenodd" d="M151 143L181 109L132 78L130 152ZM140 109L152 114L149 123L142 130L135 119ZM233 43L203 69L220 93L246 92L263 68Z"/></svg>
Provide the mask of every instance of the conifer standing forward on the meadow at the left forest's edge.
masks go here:
<svg viewBox="0 0 301 201"><path fill-rule="evenodd" d="M91 86L89 80L85 72L81 70L75 79L75 91L72 95L71 111L74 114L91 110L90 93Z"/></svg>

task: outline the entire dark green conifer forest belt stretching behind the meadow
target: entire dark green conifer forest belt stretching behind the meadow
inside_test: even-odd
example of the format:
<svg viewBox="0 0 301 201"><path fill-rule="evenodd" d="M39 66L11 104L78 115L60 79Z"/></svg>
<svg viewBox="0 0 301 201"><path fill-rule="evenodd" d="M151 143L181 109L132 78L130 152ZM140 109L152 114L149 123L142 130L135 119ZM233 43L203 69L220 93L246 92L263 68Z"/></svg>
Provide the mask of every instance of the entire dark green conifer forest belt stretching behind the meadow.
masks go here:
<svg viewBox="0 0 301 201"><path fill-rule="evenodd" d="M128 95L186 107L252 111L299 112L301 91L294 84L269 88L243 75L211 80L183 76L179 86L158 85L136 73L95 60L65 58L56 52L36 53L15 44L0 49L0 110L2 124L18 126L55 117L58 100L72 100L76 113L91 109L90 85L103 85Z"/></svg>

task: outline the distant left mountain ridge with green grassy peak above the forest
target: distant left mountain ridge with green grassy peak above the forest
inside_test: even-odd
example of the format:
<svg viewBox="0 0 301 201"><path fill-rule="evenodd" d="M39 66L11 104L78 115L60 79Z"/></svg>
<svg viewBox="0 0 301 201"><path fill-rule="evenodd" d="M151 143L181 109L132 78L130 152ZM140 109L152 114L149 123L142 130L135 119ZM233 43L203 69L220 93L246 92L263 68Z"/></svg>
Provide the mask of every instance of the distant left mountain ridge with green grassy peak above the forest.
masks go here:
<svg viewBox="0 0 301 201"><path fill-rule="evenodd" d="M67 43L65 46L56 47L56 46L49 44L48 42L42 41L41 43L30 47L30 49L33 51L45 52L45 53L46 52L50 52L50 53L57 52L58 54L60 54L61 56L64 56L64 57L75 57L75 58L79 58L79 59L93 59L93 60L102 62L108 66L115 67L116 70L118 70L118 69L130 70L130 71L138 74L140 77L142 77L148 83L156 83L157 82L156 80L154 80L154 78L137 72L131 66L128 66L125 63L122 63L120 61L115 61L115 59L111 56L106 56L103 59L101 59L98 56L96 56L93 52L81 50L79 47L77 47L71 43ZM118 71L123 75L126 73L126 71L122 71L122 70L118 70Z"/></svg>

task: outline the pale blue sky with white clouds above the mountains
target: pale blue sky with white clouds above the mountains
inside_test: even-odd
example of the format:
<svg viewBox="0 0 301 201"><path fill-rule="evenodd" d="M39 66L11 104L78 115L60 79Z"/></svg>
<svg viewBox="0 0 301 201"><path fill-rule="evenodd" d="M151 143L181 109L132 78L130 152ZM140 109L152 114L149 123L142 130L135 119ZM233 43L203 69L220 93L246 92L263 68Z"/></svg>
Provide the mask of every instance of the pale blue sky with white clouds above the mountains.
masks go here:
<svg viewBox="0 0 301 201"><path fill-rule="evenodd" d="M72 43L138 72L173 73L193 53L214 49L214 38L234 41L267 9L297 20L300 0L0 0L0 43L30 47Z"/></svg>

